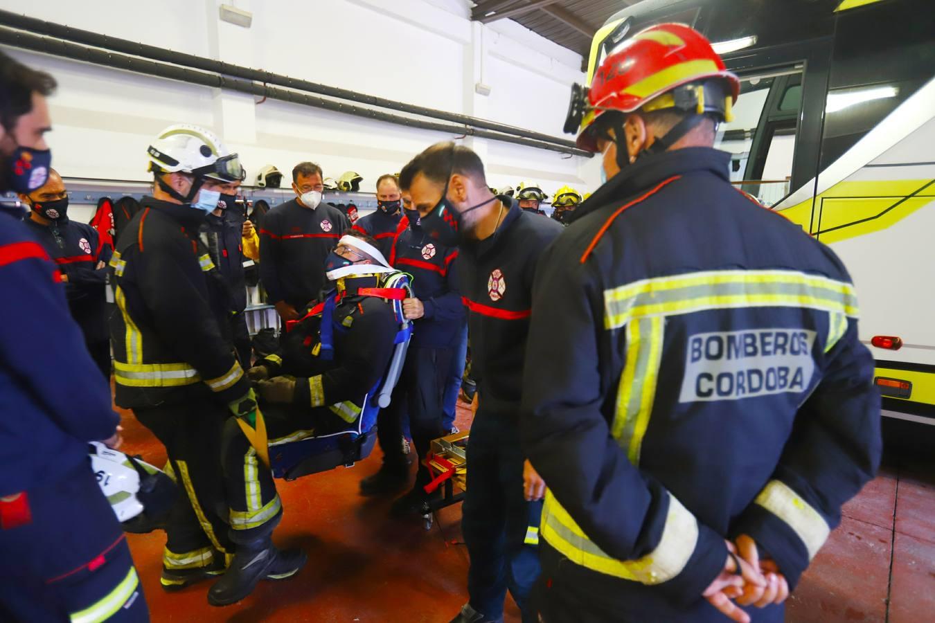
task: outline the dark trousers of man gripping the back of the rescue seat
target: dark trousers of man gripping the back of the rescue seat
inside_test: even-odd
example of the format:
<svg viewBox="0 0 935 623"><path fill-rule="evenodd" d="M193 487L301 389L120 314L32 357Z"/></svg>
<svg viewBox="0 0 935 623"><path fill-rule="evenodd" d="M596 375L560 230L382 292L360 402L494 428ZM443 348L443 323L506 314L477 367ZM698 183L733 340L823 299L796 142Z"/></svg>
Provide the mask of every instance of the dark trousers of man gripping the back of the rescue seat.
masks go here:
<svg viewBox="0 0 935 623"><path fill-rule="evenodd" d="M409 414L412 443L419 455L416 486L428 482L428 470L422 460L432 440L445 433L442 429L443 398L452 355L451 348L410 347L390 405L381 409L377 417L377 438L383 450L384 466L405 471L402 418Z"/></svg>

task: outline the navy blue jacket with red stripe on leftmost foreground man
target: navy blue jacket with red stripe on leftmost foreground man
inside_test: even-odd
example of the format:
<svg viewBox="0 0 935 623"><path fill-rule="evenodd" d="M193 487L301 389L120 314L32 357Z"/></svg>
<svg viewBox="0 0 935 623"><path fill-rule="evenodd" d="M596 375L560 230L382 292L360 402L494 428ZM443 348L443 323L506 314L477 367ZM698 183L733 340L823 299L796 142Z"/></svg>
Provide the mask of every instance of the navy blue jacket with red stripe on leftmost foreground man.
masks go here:
<svg viewBox="0 0 935 623"><path fill-rule="evenodd" d="M21 219L0 208L0 497L87 462L88 442L120 422L59 272Z"/></svg>

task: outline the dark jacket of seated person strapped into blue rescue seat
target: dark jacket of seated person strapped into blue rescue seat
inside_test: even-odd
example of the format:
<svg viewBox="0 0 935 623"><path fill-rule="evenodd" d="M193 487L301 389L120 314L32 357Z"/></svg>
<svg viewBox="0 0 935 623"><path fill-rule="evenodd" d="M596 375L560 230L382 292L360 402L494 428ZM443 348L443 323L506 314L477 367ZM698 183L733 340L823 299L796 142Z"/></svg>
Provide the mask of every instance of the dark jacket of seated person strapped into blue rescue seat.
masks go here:
<svg viewBox="0 0 935 623"><path fill-rule="evenodd" d="M378 278L346 277L344 284L349 293L338 297L327 312L324 303L313 307L283 335L280 352L257 365L265 366L270 376L296 377L296 408L329 405L338 417L352 422L367 392L386 373L399 322L391 300L357 293L359 288L385 288ZM328 316L331 335L323 338L322 323Z"/></svg>

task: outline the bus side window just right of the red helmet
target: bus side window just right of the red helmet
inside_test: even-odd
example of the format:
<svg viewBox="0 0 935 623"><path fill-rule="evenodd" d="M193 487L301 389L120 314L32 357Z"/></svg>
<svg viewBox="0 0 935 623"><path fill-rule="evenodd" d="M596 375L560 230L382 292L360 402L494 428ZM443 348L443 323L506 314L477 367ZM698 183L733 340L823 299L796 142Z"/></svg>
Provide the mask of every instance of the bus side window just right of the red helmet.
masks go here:
<svg viewBox="0 0 935 623"><path fill-rule="evenodd" d="M763 205L790 191L801 94L800 67L741 76L734 120L718 128L714 147L733 154L731 183Z"/></svg>

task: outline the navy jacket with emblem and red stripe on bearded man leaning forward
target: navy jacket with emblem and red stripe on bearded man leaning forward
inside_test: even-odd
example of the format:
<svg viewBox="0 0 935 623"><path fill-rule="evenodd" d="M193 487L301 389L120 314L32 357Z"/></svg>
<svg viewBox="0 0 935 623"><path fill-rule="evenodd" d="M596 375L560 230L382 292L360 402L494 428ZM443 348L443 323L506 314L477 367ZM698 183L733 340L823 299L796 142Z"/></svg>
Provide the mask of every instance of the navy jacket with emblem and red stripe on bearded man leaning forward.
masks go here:
<svg viewBox="0 0 935 623"><path fill-rule="evenodd" d="M500 201L505 214L496 232L459 248L458 278L468 307L471 374L482 408L516 421L533 276L542 251L563 227L521 210L507 197Z"/></svg>

